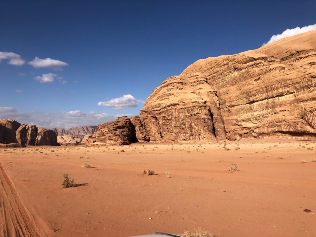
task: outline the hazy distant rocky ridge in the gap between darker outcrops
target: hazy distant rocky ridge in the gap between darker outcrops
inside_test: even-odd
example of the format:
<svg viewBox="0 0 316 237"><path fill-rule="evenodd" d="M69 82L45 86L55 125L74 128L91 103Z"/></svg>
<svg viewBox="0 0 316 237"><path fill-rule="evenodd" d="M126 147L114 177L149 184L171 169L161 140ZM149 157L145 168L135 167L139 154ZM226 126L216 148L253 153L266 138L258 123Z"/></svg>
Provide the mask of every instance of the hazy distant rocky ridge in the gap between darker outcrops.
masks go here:
<svg viewBox="0 0 316 237"><path fill-rule="evenodd" d="M57 134L57 141L62 145L85 143L87 138L97 130L97 126L80 126L70 129L52 128Z"/></svg>

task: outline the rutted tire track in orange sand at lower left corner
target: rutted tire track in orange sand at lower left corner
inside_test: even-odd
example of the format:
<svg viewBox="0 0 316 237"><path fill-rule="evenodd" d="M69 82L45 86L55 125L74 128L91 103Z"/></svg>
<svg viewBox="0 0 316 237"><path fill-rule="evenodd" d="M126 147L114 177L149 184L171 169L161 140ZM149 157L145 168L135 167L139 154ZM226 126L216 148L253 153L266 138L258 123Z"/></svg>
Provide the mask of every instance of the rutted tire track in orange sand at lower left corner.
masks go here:
<svg viewBox="0 0 316 237"><path fill-rule="evenodd" d="M0 236L41 237L40 230L0 162Z"/></svg>

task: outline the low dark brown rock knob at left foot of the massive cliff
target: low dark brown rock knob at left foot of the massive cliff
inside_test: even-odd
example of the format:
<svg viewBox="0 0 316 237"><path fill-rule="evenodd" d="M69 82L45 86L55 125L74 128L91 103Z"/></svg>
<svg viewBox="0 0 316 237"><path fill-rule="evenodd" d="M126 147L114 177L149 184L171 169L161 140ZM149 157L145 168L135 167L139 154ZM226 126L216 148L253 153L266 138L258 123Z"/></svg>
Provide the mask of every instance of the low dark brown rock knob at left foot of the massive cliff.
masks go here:
<svg viewBox="0 0 316 237"><path fill-rule="evenodd" d="M127 145L134 141L136 141L135 126L127 116L123 116L115 121L99 124L97 131L87 139L86 143Z"/></svg>

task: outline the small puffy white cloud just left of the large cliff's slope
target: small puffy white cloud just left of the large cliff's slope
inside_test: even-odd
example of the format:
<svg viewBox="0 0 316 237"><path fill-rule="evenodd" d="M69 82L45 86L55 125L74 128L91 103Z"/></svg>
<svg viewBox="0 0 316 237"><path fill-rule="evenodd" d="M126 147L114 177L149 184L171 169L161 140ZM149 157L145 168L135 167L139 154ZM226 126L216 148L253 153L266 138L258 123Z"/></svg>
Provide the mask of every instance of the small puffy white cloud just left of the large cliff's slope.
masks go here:
<svg viewBox="0 0 316 237"><path fill-rule="evenodd" d="M131 94L123 95L122 97L111 99L108 101L100 101L98 106L107 106L115 110L125 109L129 107L137 107L137 104L144 103L143 100L137 100Z"/></svg>

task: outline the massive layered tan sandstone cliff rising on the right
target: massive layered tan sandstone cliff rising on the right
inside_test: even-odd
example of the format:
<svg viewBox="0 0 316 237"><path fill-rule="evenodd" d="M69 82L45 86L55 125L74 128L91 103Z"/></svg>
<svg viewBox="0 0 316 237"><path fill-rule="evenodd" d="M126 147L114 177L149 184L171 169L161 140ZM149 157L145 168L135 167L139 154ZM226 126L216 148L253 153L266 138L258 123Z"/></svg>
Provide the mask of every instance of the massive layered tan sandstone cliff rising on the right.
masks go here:
<svg viewBox="0 0 316 237"><path fill-rule="evenodd" d="M132 137L176 143L315 139L316 31L197 60L155 88L139 115L99 125L87 143L127 144Z"/></svg>

